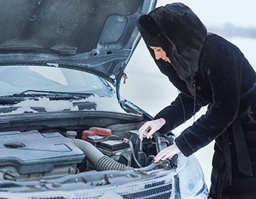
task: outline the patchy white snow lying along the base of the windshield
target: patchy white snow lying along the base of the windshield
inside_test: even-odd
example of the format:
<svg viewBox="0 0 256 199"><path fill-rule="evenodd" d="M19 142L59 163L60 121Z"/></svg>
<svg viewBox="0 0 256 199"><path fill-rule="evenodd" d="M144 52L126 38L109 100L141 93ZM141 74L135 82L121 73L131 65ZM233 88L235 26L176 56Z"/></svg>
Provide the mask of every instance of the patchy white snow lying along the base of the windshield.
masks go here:
<svg viewBox="0 0 256 199"><path fill-rule="evenodd" d="M43 107L46 112L61 112L63 110L78 111L78 105L75 103L93 102L96 104L96 109L89 109L90 111L107 111L107 112L119 112L125 113L124 109L120 107L116 97L98 97L97 95L88 97L87 99L80 99L75 101L67 100L50 100L47 97L38 98L38 100L26 99L23 102L14 104L11 107L18 107L16 110L9 112L8 114L23 114L24 112L38 112L35 108L31 107ZM6 107L6 106L4 106ZM6 114L1 112L1 114Z"/></svg>

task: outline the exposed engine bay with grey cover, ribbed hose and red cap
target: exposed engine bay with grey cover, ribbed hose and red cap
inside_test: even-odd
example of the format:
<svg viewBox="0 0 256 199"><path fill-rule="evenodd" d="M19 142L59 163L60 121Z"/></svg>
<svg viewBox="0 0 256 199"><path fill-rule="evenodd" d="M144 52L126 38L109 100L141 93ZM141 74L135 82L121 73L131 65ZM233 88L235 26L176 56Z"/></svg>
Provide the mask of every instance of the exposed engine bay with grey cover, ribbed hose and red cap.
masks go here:
<svg viewBox="0 0 256 199"><path fill-rule="evenodd" d="M173 134L154 134L139 140L139 131L114 134L91 127L82 131L41 133L0 132L0 181L51 180L87 171L127 171L149 166L161 147L172 144ZM171 159L175 168L176 158Z"/></svg>

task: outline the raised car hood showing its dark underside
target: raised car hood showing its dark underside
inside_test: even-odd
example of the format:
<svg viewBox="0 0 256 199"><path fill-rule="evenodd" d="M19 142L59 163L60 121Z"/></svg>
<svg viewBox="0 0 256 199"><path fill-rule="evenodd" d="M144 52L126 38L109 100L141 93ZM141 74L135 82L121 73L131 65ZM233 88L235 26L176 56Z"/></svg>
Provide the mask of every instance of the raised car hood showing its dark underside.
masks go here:
<svg viewBox="0 0 256 199"><path fill-rule="evenodd" d="M0 1L0 65L84 70L117 86L156 0Z"/></svg>

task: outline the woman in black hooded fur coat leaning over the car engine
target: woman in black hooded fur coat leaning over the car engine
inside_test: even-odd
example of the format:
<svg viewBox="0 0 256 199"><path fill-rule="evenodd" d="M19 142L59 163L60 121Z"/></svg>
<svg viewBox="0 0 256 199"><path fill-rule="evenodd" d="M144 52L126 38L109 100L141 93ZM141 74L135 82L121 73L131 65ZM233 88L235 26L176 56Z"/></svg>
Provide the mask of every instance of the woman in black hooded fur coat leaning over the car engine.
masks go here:
<svg viewBox="0 0 256 199"><path fill-rule="evenodd" d="M137 26L159 70L180 91L142 125L140 139L167 133L208 105L206 114L182 131L176 144L160 151L155 162L179 152L190 156L215 139L210 197L256 198L256 74L250 63L235 45L207 33L180 3L139 16Z"/></svg>

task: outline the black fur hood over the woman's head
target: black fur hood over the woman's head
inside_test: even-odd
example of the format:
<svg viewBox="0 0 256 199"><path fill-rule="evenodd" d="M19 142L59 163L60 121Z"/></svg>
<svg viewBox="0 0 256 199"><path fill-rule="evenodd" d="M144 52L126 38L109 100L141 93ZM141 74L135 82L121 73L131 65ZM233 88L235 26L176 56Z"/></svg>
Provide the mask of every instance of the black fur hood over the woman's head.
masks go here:
<svg viewBox="0 0 256 199"><path fill-rule="evenodd" d="M167 4L139 16L137 27L146 45L166 51L171 66L194 96L193 77L198 71L198 60L207 34L206 27L196 14L184 4ZM154 53L151 52L151 55L154 58ZM158 66L163 64L163 60L154 60Z"/></svg>

